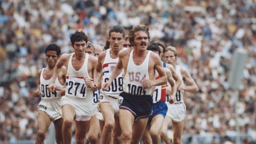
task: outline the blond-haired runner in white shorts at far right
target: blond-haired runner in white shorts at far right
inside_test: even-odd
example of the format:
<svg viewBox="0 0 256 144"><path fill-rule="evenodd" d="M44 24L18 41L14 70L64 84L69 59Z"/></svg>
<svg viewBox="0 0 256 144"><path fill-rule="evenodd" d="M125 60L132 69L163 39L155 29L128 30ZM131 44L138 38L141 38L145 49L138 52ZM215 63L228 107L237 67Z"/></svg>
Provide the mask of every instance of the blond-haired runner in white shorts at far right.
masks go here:
<svg viewBox="0 0 256 144"><path fill-rule="evenodd" d="M174 103L167 104L168 111L164 119L162 130L160 132L161 139L166 143L170 143L170 139L167 136L167 127L168 124L172 121L173 131L174 131L174 143L182 144L181 135L183 132L184 122L186 118L186 105L183 101L183 92L197 92L198 87L195 81L192 79L188 70L177 65L177 51L175 47L168 46L165 49L164 60L166 63L174 66L176 73L178 74L181 85L177 89L176 97Z"/></svg>

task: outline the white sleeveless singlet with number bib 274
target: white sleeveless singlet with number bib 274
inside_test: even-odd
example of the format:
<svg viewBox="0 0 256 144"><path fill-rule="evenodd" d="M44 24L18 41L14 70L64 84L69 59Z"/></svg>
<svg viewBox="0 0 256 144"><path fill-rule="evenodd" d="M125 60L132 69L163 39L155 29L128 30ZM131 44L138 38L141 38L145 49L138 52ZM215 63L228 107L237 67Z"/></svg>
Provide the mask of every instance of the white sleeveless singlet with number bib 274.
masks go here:
<svg viewBox="0 0 256 144"><path fill-rule="evenodd" d="M85 99L88 96L92 98L93 91L87 87L84 82L84 77L92 79L87 70L88 54L85 55L84 63L79 71L76 71L72 66L72 58L74 53L71 54L68 61L67 75L66 75L66 89L65 95Z"/></svg>

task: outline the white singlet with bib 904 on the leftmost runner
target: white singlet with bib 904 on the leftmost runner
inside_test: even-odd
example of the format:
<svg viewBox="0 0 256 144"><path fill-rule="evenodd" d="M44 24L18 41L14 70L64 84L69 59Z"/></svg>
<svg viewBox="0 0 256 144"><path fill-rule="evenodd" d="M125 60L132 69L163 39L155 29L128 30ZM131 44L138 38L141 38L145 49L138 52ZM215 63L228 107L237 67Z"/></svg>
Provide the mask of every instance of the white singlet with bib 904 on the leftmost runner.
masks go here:
<svg viewBox="0 0 256 144"><path fill-rule="evenodd" d="M40 88L40 91L41 91L41 99L45 99L45 100L46 99L60 99L61 98L60 91L54 90L52 92L49 92L47 90L47 87L48 87L49 83L51 82L52 77L50 79L45 79L44 78L44 71L45 71L45 68L42 69L42 72L40 74L39 88ZM56 79L55 85L63 87L63 85L59 81L59 78Z"/></svg>

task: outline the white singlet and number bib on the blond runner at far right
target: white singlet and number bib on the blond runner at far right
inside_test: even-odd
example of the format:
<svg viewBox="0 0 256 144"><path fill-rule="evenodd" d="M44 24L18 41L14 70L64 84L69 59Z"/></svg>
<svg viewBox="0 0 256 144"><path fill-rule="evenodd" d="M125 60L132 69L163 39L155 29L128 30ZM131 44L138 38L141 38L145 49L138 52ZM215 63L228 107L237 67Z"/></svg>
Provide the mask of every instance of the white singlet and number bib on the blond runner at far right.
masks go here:
<svg viewBox="0 0 256 144"><path fill-rule="evenodd" d="M176 66L175 72L177 73L179 79L181 80L181 85L185 85L183 80L182 80L182 75L181 75L181 72L180 72L180 66L178 66L178 65ZM167 87L170 87L169 85L170 84L168 84ZM175 103L184 102L183 101L183 92L184 92L184 90L177 90L176 98L175 98L175 101L174 101ZM166 95L166 97L167 97L166 101L168 101L169 100L169 96Z"/></svg>

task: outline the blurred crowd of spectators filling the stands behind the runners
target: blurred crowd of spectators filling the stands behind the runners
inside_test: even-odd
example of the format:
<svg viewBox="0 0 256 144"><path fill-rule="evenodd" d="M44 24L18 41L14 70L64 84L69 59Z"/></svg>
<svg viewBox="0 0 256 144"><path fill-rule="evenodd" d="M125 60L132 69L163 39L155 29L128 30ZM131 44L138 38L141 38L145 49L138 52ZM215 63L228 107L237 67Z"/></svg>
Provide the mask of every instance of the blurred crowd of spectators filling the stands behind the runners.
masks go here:
<svg viewBox="0 0 256 144"><path fill-rule="evenodd" d="M0 142L36 137L40 100L32 92L49 43L73 52L69 35L80 29L104 46L110 27L121 25L128 34L137 24L149 26L150 42L177 48L178 64L199 87L184 98L184 135L234 142L239 125L244 144L256 141L256 0L0 0ZM228 73L238 48L248 59L237 124Z"/></svg>

